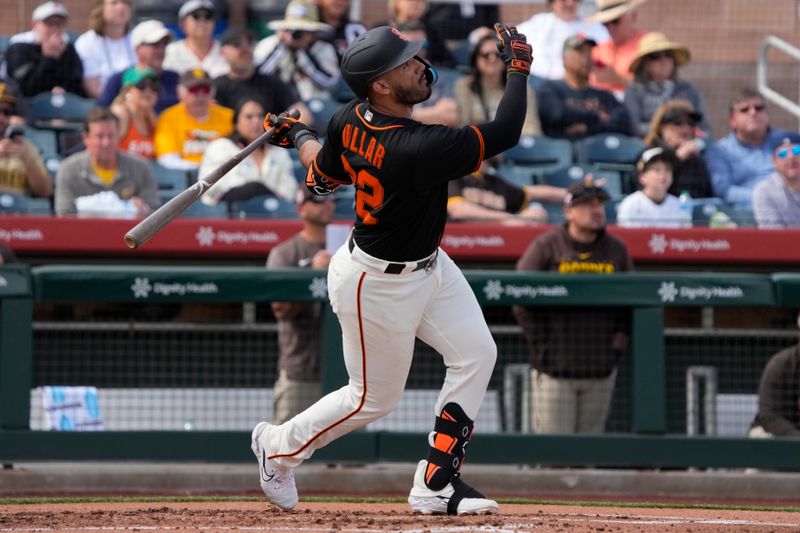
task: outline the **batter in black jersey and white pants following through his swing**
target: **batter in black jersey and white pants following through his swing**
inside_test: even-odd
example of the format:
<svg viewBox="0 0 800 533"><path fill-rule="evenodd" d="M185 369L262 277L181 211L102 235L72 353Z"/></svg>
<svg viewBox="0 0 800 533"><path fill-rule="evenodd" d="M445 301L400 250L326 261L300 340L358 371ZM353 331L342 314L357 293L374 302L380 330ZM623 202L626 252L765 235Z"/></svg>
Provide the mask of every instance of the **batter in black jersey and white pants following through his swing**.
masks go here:
<svg viewBox="0 0 800 533"><path fill-rule="evenodd" d="M497 347L464 275L439 248L447 216L447 182L475 172L484 159L514 146L526 111L531 47L513 27L495 25L508 74L495 119L460 129L411 119L427 100L436 71L392 28L354 40L342 76L357 98L330 120L325 144L297 119L270 115L269 142L296 147L318 195L341 185L356 191L356 221L328 270L331 306L342 326L349 382L279 426L252 434L261 488L283 509L297 505L293 469L314 450L394 409L419 338L447 367L436 401L430 450L408 497L423 514L493 514L494 500L460 477Z"/></svg>

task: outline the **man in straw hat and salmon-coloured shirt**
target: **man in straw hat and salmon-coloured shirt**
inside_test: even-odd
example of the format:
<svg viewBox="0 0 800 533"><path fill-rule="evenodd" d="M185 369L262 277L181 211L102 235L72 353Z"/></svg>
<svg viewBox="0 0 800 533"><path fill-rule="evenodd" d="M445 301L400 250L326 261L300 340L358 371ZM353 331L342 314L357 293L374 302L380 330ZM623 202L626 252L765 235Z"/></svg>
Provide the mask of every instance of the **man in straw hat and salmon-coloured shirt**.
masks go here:
<svg viewBox="0 0 800 533"><path fill-rule="evenodd" d="M590 22L599 22L611 36L592 49L595 68L591 84L614 93L622 100L625 88L633 81L630 66L639 52L639 41L646 32L639 29L636 8L647 0L597 0L597 13Z"/></svg>

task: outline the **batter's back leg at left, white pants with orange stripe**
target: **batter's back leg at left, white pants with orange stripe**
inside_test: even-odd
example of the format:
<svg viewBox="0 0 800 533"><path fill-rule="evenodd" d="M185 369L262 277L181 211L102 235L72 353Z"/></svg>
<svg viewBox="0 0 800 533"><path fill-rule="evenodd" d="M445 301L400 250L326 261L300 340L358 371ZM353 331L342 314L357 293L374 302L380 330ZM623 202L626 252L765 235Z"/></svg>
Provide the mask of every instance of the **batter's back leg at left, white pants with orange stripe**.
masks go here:
<svg viewBox="0 0 800 533"><path fill-rule="evenodd" d="M391 412L403 394L414 332L436 281L425 271L403 276L370 271L343 255L348 253L345 247L334 255L328 287L342 326L349 382L280 426L262 426L258 435L256 427L253 451L268 471L290 471L332 440ZM277 503L264 483L262 489ZM285 489L275 492L281 499Z"/></svg>

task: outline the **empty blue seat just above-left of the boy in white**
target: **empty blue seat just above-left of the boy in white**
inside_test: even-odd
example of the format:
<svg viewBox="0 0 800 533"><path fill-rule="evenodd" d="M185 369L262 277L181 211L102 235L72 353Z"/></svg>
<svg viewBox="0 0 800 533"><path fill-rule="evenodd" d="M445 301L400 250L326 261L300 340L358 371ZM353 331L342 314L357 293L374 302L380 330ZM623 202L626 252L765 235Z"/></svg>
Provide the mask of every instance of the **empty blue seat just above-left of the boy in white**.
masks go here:
<svg viewBox="0 0 800 533"><path fill-rule="evenodd" d="M644 149L641 139L617 133L601 133L575 143L576 161L618 172L626 194L636 190L636 161Z"/></svg>

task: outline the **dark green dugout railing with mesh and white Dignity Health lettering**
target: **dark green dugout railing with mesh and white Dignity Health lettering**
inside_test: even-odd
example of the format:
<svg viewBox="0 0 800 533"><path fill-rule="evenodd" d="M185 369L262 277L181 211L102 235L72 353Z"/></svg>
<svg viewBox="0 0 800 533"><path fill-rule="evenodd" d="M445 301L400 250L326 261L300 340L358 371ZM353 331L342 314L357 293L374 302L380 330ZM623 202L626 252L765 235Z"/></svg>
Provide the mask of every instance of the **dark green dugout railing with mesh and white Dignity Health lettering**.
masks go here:
<svg viewBox="0 0 800 533"><path fill-rule="evenodd" d="M799 442L744 438L764 364L797 342L796 326L785 317L800 302L799 275L466 275L499 347L471 461L800 467ZM276 372L277 330L268 304L326 305L324 273L313 271L50 266L34 269L30 280L24 267L5 267L0 276L9 280L8 287L0 283L4 461L250 461L249 429L270 416ZM632 343L620 365L608 433L521 431L524 379L509 369L524 368L527 354L510 318L512 304L630 309ZM778 318L765 322L769 327L715 324L715 312L742 308ZM665 314L674 311L682 313L682 327L665 327ZM340 332L329 310L323 322L323 389L333 390L346 379ZM714 370L713 383L698 367ZM697 375L690 376L690 369ZM315 459L422 456L422 434L432 423L443 372L436 354L419 345L396 412L334 442ZM41 398L47 386L95 387L104 431L44 431ZM709 398L717 403L704 403ZM708 423L712 415L715 424Z"/></svg>

